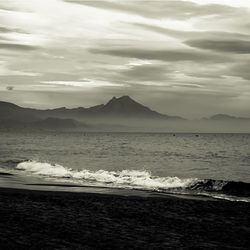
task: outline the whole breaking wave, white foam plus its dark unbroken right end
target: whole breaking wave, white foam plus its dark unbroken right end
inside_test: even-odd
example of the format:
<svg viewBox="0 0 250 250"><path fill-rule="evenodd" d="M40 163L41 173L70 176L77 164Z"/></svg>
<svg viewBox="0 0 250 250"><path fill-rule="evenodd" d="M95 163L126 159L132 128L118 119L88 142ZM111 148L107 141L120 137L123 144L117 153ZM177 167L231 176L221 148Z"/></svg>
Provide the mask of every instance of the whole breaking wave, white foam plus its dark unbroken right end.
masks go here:
<svg viewBox="0 0 250 250"><path fill-rule="evenodd" d="M141 189L160 192L183 192L189 194L211 194L250 197L250 183L197 179L178 177L158 177L145 170L90 171L73 170L59 164L36 161L20 162L17 170L25 171L36 176L53 178L57 181L69 181L94 186L115 188ZM66 180L67 179L67 180Z"/></svg>

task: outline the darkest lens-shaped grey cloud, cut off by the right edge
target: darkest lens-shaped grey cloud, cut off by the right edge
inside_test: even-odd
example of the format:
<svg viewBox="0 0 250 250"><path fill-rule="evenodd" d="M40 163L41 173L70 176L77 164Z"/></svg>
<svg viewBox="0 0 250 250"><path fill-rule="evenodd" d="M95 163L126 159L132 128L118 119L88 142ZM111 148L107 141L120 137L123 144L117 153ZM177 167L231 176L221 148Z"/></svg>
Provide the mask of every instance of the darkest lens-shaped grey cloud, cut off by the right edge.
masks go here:
<svg viewBox="0 0 250 250"><path fill-rule="evenodd" d="M230 52L237 54L250 54L250 40L187 40L185 44L206 50L213 50L219 52Z"/></svg>

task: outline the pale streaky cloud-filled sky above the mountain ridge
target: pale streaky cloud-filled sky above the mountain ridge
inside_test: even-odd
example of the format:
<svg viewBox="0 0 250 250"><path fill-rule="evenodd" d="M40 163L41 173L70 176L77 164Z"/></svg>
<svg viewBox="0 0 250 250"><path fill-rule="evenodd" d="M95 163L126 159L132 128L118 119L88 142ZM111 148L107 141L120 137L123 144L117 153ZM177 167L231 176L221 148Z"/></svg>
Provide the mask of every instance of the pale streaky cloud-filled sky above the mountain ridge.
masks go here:
<svg viewBox="0 0 250 250"><path fill-rule="evenodd" d="M1 0L0 100L250 117L250 0Z"/></svg>

